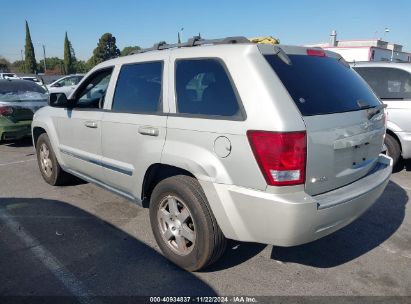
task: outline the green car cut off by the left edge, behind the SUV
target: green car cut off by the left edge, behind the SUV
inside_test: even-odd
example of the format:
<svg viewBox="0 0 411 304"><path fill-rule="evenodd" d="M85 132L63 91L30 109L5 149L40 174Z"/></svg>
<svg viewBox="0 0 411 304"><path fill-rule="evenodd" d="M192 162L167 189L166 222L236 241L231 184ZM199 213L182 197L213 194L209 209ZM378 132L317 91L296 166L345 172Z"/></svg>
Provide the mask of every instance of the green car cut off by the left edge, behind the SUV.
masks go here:
<svg viewBox="0 0 411 304"><path fill-rule="evenodd" d="M0 80L0 141L30 136L33 114L47 99L46 90L32 81Z"/></svg>

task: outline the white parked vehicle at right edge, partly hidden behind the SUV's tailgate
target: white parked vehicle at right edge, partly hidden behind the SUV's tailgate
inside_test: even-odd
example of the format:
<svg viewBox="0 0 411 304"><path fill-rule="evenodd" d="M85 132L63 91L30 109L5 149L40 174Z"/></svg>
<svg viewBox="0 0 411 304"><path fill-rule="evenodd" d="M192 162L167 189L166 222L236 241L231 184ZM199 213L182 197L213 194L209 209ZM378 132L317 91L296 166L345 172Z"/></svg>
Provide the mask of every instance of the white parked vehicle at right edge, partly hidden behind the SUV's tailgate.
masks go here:
<svg viewBox="0 0 411 304"><path fill-rule="evenodd" d="M387 105L387 153L411 158L411 63L357 62L352 67Z"/></svg>

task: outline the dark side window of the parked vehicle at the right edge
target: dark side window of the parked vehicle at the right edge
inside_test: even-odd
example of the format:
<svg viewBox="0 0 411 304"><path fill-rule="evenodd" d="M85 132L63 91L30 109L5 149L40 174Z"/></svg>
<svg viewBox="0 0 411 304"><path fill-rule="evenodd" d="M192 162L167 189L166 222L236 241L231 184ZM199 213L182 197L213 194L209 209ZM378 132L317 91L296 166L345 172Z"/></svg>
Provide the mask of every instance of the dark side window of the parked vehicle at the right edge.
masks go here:
<svg viewBox="0 0 411 304"><path fill-rule="evenodd" d="M354 67L381 99L411 99L411 74L384 67Z"/></svg>

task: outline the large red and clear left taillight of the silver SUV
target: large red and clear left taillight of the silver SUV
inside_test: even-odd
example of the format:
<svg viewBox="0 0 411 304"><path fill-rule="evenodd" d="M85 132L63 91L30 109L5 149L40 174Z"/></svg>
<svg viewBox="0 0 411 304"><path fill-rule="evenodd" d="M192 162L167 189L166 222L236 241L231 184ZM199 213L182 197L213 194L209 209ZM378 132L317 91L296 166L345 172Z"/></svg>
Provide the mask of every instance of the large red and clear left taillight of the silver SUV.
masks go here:
<svg viewBox="0 0 411 304"><path fill-rule="evenodd" d="M304 184L305 132L248 131L247 137L268 185Z"/></svg>

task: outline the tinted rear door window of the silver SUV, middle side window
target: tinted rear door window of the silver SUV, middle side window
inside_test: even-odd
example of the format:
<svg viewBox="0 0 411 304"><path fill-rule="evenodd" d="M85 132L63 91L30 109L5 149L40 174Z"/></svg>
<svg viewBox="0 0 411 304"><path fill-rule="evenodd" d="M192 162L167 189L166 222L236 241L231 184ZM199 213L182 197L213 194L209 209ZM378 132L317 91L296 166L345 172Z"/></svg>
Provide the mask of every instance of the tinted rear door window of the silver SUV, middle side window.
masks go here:
<svg viewBox="0 0 411 304"><path fill-rule="evenodd" d="M127 64L121 68L112 110L155 113L161 103L162 62Z"/></svg>

